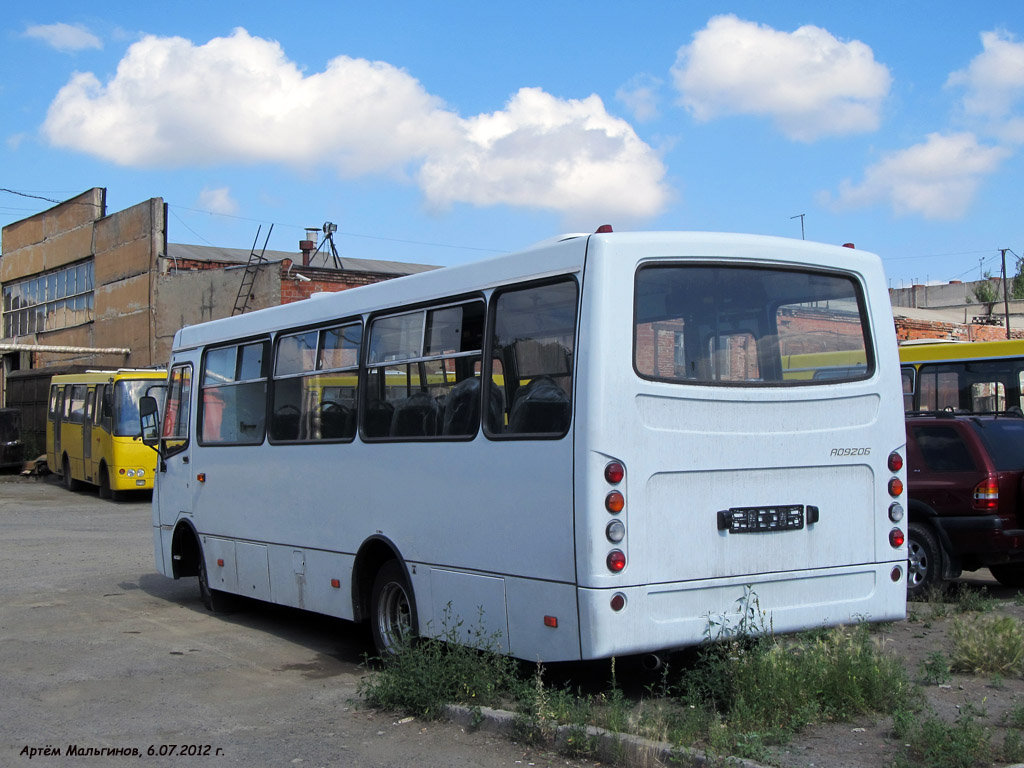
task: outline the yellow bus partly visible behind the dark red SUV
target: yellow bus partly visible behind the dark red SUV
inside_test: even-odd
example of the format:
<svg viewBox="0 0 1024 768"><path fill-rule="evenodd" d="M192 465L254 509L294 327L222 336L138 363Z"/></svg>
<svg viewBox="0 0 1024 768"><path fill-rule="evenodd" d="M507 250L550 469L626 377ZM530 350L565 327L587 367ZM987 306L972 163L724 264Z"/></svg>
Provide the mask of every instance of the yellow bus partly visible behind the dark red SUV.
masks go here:
<svg viewBox="0 0 1024 768"><path fill-rule="evenodd" d="M904 411L989 413L1024 408L1024 340L904 342Z"/></svg>

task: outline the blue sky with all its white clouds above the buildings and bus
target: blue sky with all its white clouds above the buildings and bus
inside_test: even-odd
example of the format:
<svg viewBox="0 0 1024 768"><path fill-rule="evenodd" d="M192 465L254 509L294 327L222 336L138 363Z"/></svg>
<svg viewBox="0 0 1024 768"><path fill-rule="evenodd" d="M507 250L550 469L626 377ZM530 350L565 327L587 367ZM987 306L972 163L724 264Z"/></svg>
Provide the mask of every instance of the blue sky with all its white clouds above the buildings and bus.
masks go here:
<svg viewBox="0 0 1024 768"><path fill-rule="evenodd" d="M93 186L171 242L456 264L565 231L801 237L892 287L1024 256L1024 3L18 4L0 224Z"/></svg>

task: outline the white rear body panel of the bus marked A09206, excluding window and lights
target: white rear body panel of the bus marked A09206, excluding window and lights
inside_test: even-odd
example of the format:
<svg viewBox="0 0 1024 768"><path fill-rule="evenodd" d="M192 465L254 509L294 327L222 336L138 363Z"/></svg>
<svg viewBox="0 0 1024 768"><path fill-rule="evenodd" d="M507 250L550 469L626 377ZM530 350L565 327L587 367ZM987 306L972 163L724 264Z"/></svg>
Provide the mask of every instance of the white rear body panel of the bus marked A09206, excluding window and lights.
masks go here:
<svg viewBox="0 0 1024 768"><path fill-rule="evenodd" d="M791 387L641 379L633 360L632 317L624 323L607 306L622 286L634 285L640 264L658 259L849 275L867 303L873 376ZM583 656L700 642L709 612L730 613L744 586L776 630L858 615L901 617L906 584L903 578L894 583L890 574L905 564L906 551L888 540L893 524L886 483L905 476L890 472L886 462L893 451L905 456L905 435L895 333L877 259L802 243L785 243L780 250L772 239L595 236L584 284L581 334L600 344L581 336L578 358ZM626 468L615 486L603 477L612 459ZM605 537L610 516L604 500L613 488L626 499L615 515L626 528L617 544ZM820 518L793 530L719 529L720 511L776 505L816 507ZM626 556L618 573L605 561L613 548ZM609 607L615 593L627 596L617 612Z"/></svg>

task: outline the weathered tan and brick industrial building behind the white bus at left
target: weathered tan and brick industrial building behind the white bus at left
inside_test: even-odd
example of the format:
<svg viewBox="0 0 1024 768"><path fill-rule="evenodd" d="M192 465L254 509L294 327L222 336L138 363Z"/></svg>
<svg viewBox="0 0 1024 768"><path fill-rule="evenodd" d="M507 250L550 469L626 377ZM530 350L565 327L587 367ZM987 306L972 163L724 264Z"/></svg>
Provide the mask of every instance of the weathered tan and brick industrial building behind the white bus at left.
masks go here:
<svg viewBox="0 0 1024 768"><path fill-rule="evenodd" d="M182 326L434 268L349 258L314 266L299 252L260 255L250 265L247 250L168 243L161 198L108 214L98 187L8 224L0 406L20 408L38 442L55 373L164 366Z"/></svg>

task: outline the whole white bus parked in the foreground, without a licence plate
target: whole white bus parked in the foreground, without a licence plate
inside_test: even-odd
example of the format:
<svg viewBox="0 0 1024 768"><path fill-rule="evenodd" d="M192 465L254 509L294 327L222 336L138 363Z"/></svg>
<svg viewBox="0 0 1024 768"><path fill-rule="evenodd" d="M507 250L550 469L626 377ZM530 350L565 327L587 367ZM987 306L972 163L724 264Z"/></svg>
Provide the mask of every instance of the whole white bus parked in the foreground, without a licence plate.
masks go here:
<svg viewBox="0 0 1024 768"><path fill-rule="evenodd" d="M566 236L184 328L168 384L157 566L211 607L369 622L382 651L462 621L546 662L698 643L744 590L775 632L905 614L867 253Z"/></svg>

